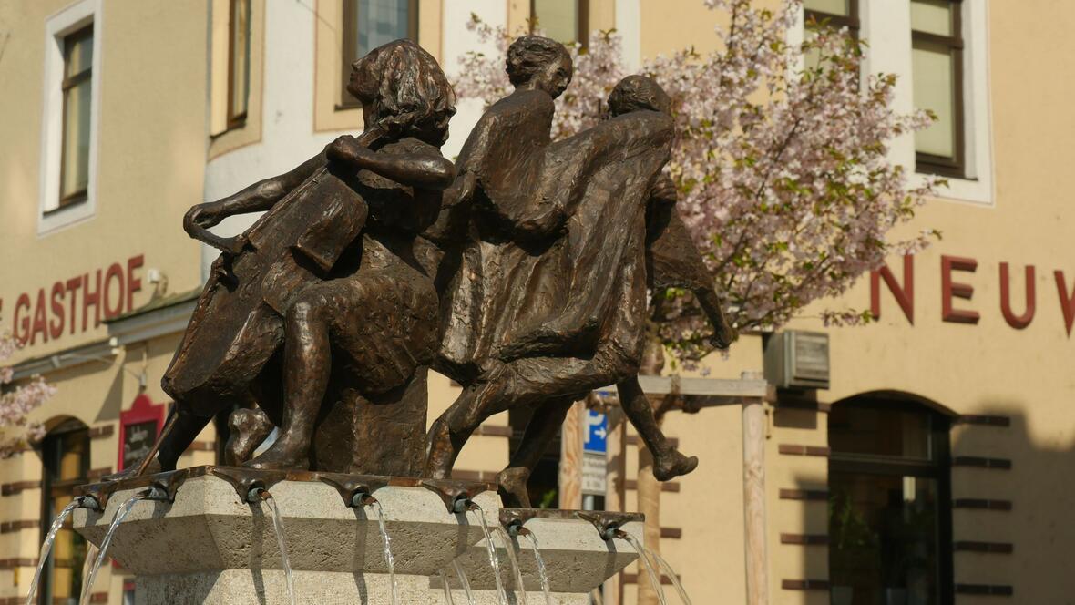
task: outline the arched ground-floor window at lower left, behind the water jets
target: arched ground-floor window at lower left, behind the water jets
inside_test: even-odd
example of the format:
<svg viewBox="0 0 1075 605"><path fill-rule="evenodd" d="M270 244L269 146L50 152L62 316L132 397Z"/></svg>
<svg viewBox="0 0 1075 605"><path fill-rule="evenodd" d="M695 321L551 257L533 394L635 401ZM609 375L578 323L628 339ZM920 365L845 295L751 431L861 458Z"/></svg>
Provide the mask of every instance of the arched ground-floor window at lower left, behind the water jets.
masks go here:
<svg viewBox="0 0 1075 605"><path fill-rule="evenodd" d="M41 532L48 532L53 519L74 499L74 488L88 482L89 431L77 420L68 420L45 436L41 444L42 477ZM83 562L87 545L70 525L56 534L52 553L38 589L42 605L74 603L82 592Z"/></svg>

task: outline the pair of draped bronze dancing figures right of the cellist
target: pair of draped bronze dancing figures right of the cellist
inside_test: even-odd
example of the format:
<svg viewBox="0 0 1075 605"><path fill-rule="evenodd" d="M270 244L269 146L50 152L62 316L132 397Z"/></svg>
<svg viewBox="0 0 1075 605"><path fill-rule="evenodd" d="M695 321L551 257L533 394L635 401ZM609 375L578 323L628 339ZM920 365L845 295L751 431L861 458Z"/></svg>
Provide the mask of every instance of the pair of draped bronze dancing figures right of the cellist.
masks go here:
<svg viewBox="0 0 1075 605"><path fill-rule="evenodd" d="M426 473L448 476L471 432L492 414L536 406L498 477L504 500L518 505L528 504L529 474L572 402L611 384L635 386L625 401L655 451L660 478L697 464L664 440L634 379L645 337L646 260L654 258L644 254L647 201L668 189L660 170L672 136L668 103L641 103L655 90L666 96L650 81L642 78L647 87L629 78L613 96L617 117L553 143L553 100L567 87L570 67L551 40L531 35L512 44L507 71L516 89L471 132L447 196L454 212L467 216L445 222L470 242L442 300L447 312L434 366L465 390L430 430ZM683 269L662 251L692 254L698 264L686 267L700 265L689 240L671 234L656 248L661 267ZM718 344L727 346L731 331L716 309Z"/></svg>

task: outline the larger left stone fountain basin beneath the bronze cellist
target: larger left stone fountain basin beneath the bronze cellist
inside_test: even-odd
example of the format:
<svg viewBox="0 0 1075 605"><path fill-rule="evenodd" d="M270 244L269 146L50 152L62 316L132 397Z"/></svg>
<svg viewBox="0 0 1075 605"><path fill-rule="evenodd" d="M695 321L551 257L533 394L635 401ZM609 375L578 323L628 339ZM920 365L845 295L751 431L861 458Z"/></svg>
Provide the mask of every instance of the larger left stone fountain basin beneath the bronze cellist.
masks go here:
<svg viewBox="0 0 1075 605"><path fill-rule="evenodd" d="M134 504L113 536L109 554L139 576L282 570L268 505L242 502L233 481L215 475L215 470L227 471L190 470L177 486L171 486L173 503ZM248 476L250 472L243 473ZM322 482L317 473L267 476L271 477L269 491L284 519L292 570L387 573L374 507L346 506L341 492ZM448 513L443 496L422 487L420 479L381 479L379 482L387 485L375 486L372 494L384 510L396 574L435 575L483 539L474 513ZM75 530L99 546L123 502L145 490L153 480L147 477L112 486L115 491L109 495L103 512L75 510ZM84 492L92 493L95 487L98 486L89 486ZM492 518L499 507L496 491L483 491L473 495L473 500L490 512L487 513L490 524L496 523Z"/></svg>

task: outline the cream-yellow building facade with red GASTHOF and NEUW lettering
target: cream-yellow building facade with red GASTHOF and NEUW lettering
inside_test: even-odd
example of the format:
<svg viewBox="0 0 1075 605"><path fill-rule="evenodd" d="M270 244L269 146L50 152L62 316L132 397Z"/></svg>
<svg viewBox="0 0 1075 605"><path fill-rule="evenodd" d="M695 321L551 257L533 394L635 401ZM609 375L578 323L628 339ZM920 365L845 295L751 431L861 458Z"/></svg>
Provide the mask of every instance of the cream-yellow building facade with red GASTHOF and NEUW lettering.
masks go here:
<svg viewBox="0 0 1075 605"><path fill-rule="evenodd" d="M775 5L775 1L773 2ZM764 570L770 603L1073 603L1075 260L1064 253L1075 131L1075 6L1049 18L997 0L806 0L869 41L864 69L898 74L894 105L934 127L893 158L948 186L908 229L944 237L889 259L843 300L877 320L827 328L811 308L747 334L711 376L766 372L788 334L828 336L828 388L783 385L766 403ZM16 378L57 394L33 413L45 440L0 461L0 603L22 603L52 516L74 486L139 458L163 420L160 390L215 253L182 230L194 204L283 173L361 129L343 90L349 61L400 37L449 75L483 47L471 13L510 30L538 17L564 41L616 29L625 60L717 48L699 0L203 0L0 3L0 329L24 348ZM1059 75L1059 77L1058 77ZM17 85L14 85L17 83ZM481 113L460 102L445 155ZM250 218L217 231L238 233ZM803 338L803 342L808 338ZM805 349L804 349L805 350ZM816 385L815 385L816 386ZM430 379L430 419L458 394ZM522 415L479 429L459 476L491 478ZM217 460L221 424L183 465ZM746 602L742 415L672 413L665 430L701 465L660 489L660 550L699 603ZM639 507L637 449L625 435L606 498ZM557 493L556 451L535 477ZM615 492L615 493L614 493ZM64 530L40 603L74 603L87 546ZM633 566L610 586L636 602ZM131 576L102 570L95 603L123 603ZM611 600L610 600L611 601ZM606 601L607 602L607 601Z"/></svg>

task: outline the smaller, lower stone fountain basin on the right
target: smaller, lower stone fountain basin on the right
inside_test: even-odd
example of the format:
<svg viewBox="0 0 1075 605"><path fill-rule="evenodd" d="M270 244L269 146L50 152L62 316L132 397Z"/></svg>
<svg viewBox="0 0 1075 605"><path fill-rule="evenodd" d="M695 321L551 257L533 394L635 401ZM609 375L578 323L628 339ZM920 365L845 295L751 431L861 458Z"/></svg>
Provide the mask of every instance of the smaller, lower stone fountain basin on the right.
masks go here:
<svg viewBox="0 0 1075 605"><path fill-rule="evenodd" d="M585 515L586 513L583 513ZM591 513L600 523L615 523L624 532L642 542L644 517L640 514ZM578 510L541 508L504 508L501 520L516 518L522 527L533 532L541 547L542 559L548 572L549 586L554 593L586 594L605 579L620 572L637 559L637 553L627 541L601 537L598 527L579 517ZM499 533L499 532L498 532ZM502 536L493 536L497 556L500 559L501 579L508 590L517 590L517 581L512 571ZM522 572L526 591L540 594L541 579L538 561L530 541L520 536L512 537L517 547L516 556ZM489 564L485 538L465 549L459 562L467 572L471 587L486 591L496 589L496 579ZM458 580L448 575L449 586L458 588Z"/></svg>

